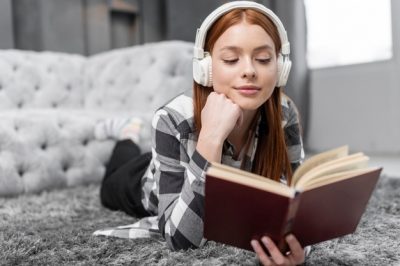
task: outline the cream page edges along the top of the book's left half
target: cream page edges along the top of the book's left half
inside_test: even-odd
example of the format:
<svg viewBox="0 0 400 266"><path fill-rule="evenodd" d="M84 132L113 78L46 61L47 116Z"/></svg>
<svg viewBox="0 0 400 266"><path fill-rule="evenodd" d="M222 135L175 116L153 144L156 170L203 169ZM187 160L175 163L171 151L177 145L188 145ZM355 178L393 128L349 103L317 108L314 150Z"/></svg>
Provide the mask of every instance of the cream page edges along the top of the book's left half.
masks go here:
<svg viewBox="0 0 400 266"><path fill-rule="evenodd" d="M295 190L285 184L226 165L213 163L208 168L207 175L289 198L294 197L295 194Z"/></svg>

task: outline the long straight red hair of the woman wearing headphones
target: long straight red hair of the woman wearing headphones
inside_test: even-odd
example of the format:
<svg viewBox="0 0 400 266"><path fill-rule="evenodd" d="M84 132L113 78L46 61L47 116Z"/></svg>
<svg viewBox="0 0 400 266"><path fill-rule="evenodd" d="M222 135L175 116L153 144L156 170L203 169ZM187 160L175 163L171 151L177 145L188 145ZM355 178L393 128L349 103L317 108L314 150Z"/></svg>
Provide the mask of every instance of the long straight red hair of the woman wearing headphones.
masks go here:
<svg viewBox="0 0 400 266"><path fill-rule="evenodd" d="M207 33L205 51L212 52L217 39L232 25L246 20L250 24L261 26L272 38L275 44L275 53L278 55L281 49L281 41L275 24L265 15L251 9L234 9L220 17ZM204 87L194 82L194 122L197 133L201 129L201 111L207 101L208 95L213 91L212 87ZM285 134L282 128L281 88L275 87L271 97L259 108L255 121L261 116L259 126L258 145L252 165L252 172L279 181L281 175L285 175L288 183L291 181L292 169L285 143ZM256 123L253 128L256 130ZM248 138L249 141L251 138ZM249 148L250 143L244 146ZM242 167L245 163L242 163Z"/></svg>

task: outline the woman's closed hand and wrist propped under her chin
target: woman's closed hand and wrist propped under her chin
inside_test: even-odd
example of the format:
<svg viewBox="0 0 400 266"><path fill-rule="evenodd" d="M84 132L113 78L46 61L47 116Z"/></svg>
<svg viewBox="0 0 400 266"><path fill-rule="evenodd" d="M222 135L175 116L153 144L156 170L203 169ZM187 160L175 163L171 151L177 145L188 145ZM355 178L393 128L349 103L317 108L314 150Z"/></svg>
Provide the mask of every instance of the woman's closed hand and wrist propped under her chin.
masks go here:
<svg viewBox="0 0 400 266"><path fill-rule="evenodd" d="M242 109L224 94L211 92L201 111L197 150L207 161L221 161L222 145L235 126L243 122Z"/></svg>

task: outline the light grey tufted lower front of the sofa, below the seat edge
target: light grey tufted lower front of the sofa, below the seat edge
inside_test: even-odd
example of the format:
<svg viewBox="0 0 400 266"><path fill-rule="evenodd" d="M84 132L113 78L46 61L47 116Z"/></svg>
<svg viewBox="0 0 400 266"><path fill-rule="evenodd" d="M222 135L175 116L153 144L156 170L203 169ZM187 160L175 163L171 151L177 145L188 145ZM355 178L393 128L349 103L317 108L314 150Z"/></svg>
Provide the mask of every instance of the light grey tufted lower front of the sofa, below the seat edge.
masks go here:
<svg viewBox="0 0 400 266"><path fill-rule="evenodd" d="M101 180L115 141L94 138L100 113L21 110L0 119L0 195Z"/></svg>

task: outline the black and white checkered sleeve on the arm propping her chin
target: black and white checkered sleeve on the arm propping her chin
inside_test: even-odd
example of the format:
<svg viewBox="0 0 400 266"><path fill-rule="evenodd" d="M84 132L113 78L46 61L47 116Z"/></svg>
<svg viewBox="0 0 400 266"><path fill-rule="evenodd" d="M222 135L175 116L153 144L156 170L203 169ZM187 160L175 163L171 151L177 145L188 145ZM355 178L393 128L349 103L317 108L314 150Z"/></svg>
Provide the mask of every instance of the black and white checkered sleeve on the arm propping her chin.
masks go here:
<svg viewBox="0 0 400 266"><path fill-rule="evenodd" d="M189 156L188 145L195 144L185 136L185 123L165 109L160 109L153 119L153 158L159 180L158 226L174 250L196 248L205 242L204 176L208 162L197 151Z"/></svg>

